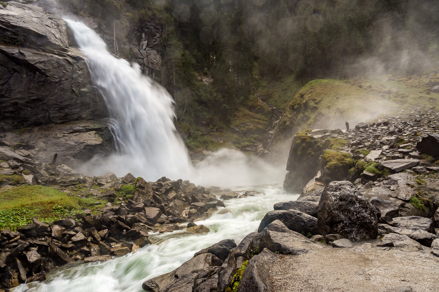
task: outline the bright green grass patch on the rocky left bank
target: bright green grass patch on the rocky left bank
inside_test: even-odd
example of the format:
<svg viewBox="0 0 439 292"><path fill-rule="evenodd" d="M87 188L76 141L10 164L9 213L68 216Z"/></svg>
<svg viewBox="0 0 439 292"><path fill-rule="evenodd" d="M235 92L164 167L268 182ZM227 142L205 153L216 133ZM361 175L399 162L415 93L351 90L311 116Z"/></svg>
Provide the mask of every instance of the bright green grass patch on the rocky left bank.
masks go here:
<svg viewBox="0 0 439 292"><path fill-rule="evenodd" d="M16 230L29 224L36 217L43 222L52 222L67 215L83 213L82 208L95 209L95 198L81 199L68 196L46 186L20 186L0 192L0 229ZM98 208L102 208L99 205Z"/></svg>

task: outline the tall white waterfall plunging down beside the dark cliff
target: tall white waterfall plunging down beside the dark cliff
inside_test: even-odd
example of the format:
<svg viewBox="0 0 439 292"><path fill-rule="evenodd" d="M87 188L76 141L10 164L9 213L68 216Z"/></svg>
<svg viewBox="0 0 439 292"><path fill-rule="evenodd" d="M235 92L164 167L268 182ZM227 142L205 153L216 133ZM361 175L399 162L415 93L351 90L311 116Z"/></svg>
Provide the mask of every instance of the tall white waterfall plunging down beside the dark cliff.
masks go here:
<svg viewBox="0 0 439 292"><path fill-rule="evenodd" d="M118 154L94 158L89 169L155 181L158 176L180 177L192 171L187 150L176 134L173 99L168 92L107 50L104 41L82 22L65 19L86 55L93 84L101 91L110 115ZM102 173L101 173L102 174Z"/></svg>

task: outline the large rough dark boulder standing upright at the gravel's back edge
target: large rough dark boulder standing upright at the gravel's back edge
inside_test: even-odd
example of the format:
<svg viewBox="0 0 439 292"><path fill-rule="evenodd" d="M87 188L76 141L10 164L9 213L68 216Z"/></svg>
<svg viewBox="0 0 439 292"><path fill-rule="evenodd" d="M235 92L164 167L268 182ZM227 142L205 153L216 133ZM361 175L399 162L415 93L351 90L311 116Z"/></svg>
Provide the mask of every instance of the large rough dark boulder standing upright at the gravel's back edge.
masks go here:
<svg viewBox="0 0 439 292"><path fill-rule="evenodd" d="M320 199L318 229L323 236L340 234L353 241L375 239L378 214L379 210L351 182L335 181L325 187Z"/></svg>

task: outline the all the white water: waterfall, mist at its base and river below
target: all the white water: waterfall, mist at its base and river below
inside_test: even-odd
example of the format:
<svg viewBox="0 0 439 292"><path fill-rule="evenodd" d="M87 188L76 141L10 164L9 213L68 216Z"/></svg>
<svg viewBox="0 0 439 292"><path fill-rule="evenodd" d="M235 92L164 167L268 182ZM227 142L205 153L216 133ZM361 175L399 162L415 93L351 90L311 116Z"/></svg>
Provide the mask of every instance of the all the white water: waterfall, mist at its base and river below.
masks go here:
<svg viewBox="0 0 439 292"><path fill-rule="evenodd" d="M163 89L140 74L138 65L131 66L117 59L90 28L77 21L66 20L76 41L87 56L92 81L104 95L112 120L112 130L120 153L103 161L95 158L89 170L115 172L119 177L127 172L155 180L161 176L195 179L213 185L263 184L279 181L285 171L260 160L248 165L242 152L223 149L211 155L193 169L186 149L175 135L172 99ZM184 234L179 230L151 234L157 244L116 257L107 262L65 266L47 275L41 283L18 286L14 292L140 292L142 283L157 275L174 270L194 253L223 239L239 243L257 230L260 220L273 204L291 201L298 195L284 194L282 187L239 187L256 190L260 197L224 201L216 215L197 224L211 231L204 234ZM227 212L229 211L229 212ZM219 214L221 213L221 214Z"/></svg>

